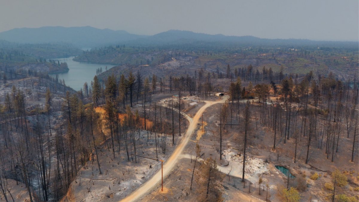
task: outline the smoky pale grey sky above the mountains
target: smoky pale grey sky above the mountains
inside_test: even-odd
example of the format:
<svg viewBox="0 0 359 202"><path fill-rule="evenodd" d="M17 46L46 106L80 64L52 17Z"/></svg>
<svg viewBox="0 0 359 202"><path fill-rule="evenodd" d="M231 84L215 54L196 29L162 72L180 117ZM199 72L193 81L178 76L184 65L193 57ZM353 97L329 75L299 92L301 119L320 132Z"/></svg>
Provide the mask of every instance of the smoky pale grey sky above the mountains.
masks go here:
<svg viewBox="0 0 359 202"><path fill-rule="evenodd" d="M0 32L92 26L261 38L359 41L358 0L0 0Z"/></svg>

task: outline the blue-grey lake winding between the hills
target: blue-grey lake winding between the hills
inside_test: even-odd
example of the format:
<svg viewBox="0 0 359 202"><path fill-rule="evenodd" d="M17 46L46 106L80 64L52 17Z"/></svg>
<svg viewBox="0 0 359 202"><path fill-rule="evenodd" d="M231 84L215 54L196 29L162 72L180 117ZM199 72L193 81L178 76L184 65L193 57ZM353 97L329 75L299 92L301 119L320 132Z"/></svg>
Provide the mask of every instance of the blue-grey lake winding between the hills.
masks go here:
<svg viewBox="0 0 359 202"><path fill-rule="evenodd" d="M79 91L83 88L84 83L87 82L90 86L93 77L96 75L96 69L102 67L102 72L107 69L112 68L115 65L110 64L91 64L91 63L80 63L72 60L74 57L70 58L59 58L54 59L55 61L59 60L60 63L66 62L69 67L69 72L58 73L59 79L64 79L66 86L70 86L71 88ZM55 77L56 74L49 74Z"/></svg>

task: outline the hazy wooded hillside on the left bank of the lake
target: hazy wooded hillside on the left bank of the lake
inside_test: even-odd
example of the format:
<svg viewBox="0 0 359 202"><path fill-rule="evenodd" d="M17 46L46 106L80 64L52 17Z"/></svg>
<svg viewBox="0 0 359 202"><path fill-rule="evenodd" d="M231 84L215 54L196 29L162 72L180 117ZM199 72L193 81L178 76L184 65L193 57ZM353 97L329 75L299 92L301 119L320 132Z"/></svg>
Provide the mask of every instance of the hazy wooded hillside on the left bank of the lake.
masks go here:
<svg viewBox="0 0 359 202"><path fill-rule="evenodd" d="M0 40L1 79L21 78L36 73L61 73L69 71L66 63L54 58L67 58L82 51L69 44L19 44Z"/></svg>

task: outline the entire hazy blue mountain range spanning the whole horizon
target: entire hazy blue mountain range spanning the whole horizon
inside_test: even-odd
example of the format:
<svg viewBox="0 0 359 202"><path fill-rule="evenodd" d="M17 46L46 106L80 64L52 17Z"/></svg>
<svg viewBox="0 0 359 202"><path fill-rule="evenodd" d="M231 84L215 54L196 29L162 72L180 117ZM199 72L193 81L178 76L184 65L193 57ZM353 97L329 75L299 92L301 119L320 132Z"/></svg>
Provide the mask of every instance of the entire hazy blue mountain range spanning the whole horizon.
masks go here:
<svg viewBox="0 0 359 202"><path fill-rule="evenodd" d="M266 39L254 36L209 35L192 31L169 30L153 36L135 35L126 31L86 27L15 28L0 33L0 40L17 43L66 42L83 47L127 43L131 45L157 45L188 42L229 42L245 45L300 45L300 46L359 46L359 42L312 41L307 39Z"/></svg>

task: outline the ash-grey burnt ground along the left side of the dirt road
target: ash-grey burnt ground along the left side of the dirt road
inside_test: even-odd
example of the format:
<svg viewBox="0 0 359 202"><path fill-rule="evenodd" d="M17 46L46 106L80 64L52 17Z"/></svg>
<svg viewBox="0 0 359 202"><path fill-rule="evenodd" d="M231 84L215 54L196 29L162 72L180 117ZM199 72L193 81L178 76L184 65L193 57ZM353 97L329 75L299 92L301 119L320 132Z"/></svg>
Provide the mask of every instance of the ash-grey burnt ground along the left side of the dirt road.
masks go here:
<svg viewBox="0 0 359 202"><path fill-rule="evenodd" d="M168 98L167 95L157 95L159 100L163 98ZM195 100L195 98L194 98ZM185 109L188 110L188 105L186 103L192 100L185 100ZM151 123L154 123L154 113L153 108L157 101L151 103L151 106L148 106L149 109L147 116ZM190 105L191 106L191 105ZM200 107L197 105L191 107L193 110L197 110ZM143 115L143 108L141 105L136 105L132 108L132 112L135 110L139 111L139 114ZM159 108L158 108L159 110ZM162 109L164 113L165 109ZM158 112L159 113L159 112ZM175 116L178 116L177 111L174 112ZM157 115L159 116L159 115ZM175 122L177 125L178 122ZM181 123L181 131L185 133L188 126L188 121L183 118ZM159 136L159 147L156 154L156 144L155 144L155 134ZM137 137L137 134L136 134ZM167 150L165 153L162 153L162 135L154 132L149 132L149 141L147 141L147 131L140 131L140 138L137 139L137 155L149 157L153 159L166 160L178 142L181 141L183 136L178 136L178 128L175 130L175 145L172 145L172 134L168 133L166 138ZM113 157L112 149L108 149L107 145L111 143L104 143L99 149L99 161L101 165L101 170L103 174L99 174L96 162L96 156L92 161L88 161L85 166L83 166L79 174L76 176L76 179L71 185L71 189L67 193L67 196L64 198L69 201L118 201L131 192L136 190L140 185L150 179L160 168L161 162L151 159L146 159L139 157L137 162L134 156L130 156L130 161L127 159L127 153L125 150L125 144L122 139L120 143L120 152L118 153L119 147L118 143L115 143L115 158ZM134 148L129 144L129 153L134 154ZM80 180L81 178L81 180ZM66 200L65 200L66 201Z"/></svg>

